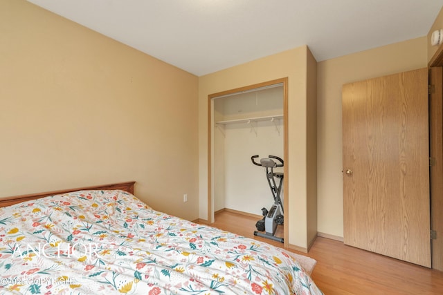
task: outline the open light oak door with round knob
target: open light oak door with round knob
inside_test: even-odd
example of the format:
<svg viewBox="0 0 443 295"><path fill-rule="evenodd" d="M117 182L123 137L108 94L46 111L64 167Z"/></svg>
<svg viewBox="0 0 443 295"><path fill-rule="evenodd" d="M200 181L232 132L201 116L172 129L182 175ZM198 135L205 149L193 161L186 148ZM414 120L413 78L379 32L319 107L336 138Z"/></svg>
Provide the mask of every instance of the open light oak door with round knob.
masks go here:
<svg viewBox="0 0 443 295"><path fill-rule="evenodd" d="M426 68L343 86L344 242L431 267Z"/></svg>

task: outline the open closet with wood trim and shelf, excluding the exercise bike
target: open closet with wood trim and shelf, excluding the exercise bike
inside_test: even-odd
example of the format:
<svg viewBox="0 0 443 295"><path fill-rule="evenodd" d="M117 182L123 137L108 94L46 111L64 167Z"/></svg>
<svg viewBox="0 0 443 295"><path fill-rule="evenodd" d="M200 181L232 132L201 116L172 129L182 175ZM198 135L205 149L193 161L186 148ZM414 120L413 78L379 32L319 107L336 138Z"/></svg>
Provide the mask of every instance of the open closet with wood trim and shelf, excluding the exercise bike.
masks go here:
<svg viewBox="0 0 443 295"><path fill-rule="evenodd" d="M279 195L287 212L287 92L283 78L208 95L208 222L215 222L217 212L232 211L256 218L255 227L262 208L271 210L273 183L264 166L253 164L254 155L256 163L269 155L284 161L273 172L283 174ZM275 236L286 232L278 225Z"/></svg>

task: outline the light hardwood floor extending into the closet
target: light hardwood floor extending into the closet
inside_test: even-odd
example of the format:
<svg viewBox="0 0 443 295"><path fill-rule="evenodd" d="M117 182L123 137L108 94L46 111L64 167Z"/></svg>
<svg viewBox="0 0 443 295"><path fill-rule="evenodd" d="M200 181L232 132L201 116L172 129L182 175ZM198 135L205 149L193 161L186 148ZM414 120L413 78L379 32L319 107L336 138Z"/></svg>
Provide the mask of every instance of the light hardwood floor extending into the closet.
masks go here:
<svg viewBox="0 0 443 295"><path fill-rule="evenodd" d="M256 221L253 217L221 211L211 226L282 247L280 242L253 236ZM282 232L278 229L277 235ZM443 272L349 247L336 240L318 237L308 254L293 252L317 260L311 277L327 295L443 294Z"/></svg>

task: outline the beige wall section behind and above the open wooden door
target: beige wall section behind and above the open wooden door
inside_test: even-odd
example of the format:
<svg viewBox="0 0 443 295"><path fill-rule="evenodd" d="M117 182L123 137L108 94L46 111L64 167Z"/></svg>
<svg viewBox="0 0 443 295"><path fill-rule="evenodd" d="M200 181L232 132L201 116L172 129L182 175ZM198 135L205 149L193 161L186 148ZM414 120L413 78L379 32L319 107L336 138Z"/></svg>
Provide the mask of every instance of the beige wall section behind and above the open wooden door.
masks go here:
<svg viewBox="0 0 443 295"><path fill-rule="evenodd" d="M427 65L426 37L318 63L318 231L343 237L341 86Z"/></svg>

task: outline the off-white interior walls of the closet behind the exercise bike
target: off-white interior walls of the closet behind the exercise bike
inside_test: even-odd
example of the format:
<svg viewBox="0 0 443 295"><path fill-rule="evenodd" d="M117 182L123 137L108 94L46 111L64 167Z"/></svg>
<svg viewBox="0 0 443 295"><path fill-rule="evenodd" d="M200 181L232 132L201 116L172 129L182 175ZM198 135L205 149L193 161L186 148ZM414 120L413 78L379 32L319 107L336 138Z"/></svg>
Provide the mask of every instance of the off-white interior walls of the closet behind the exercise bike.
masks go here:
<svg viewBox="0 0 443 295"><path fill-rule="evenodd" d="M213 99L215 212L260 216L263 207L271 207L265 170L251 156L259 155L257 162L269 155L283 159L283 99L282 85Z"/></svg>

